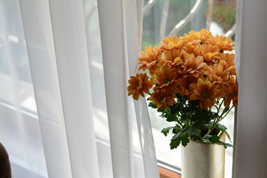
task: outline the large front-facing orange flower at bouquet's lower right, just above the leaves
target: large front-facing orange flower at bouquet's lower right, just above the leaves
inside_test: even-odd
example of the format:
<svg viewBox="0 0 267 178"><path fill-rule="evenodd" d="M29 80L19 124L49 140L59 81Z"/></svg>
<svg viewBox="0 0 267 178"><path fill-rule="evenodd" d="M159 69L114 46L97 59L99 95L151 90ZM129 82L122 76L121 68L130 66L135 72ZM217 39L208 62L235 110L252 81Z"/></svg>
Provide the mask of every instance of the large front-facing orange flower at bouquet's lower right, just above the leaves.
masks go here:
<svg viewBox="0 0 267 178"><path fill-rule="evenodd" d="M216 99L224 96L218 90L218 85L212 84L208 79L199 78L197 84L190 84L190 90L192 94L189 96L190 100L199 100L199 105L203 109L212 107L214 104L218 104Z"/></svg>

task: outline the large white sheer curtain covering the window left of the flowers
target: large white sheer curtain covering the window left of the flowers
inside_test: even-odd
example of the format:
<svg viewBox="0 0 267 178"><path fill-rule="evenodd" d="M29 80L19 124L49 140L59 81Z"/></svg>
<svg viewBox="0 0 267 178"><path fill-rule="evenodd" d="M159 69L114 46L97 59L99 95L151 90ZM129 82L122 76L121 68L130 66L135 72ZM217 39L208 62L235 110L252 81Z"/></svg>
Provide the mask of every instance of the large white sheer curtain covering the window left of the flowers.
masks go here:
<svg viewBox="0 0 267 178"><path fill-rule="evenodd" d="M1 114L1 142L8 151L12 150L12 165L40 177L159 177L150 120L144 110L146 103L133 103L126 90L140 51L142 3L0 1L1 52L6 53L3 61L8 61L11 71L0 76L5 82L2 84L10 87L1 92L14 98L8 103L4 99L7 97L1 97L1 110L13 108L9 112L16 116L9 123L10 115ZM27 49L37 110L31 81L22 82L18 71L11 70L15 59L10 38L14 35L12 27L7 27L7 7L13 7L18 23L23 24L20 30L16 29L16 22L10 26L23 36L18 41ZM21 83L30 88L24 100L18 93L28 89ZM26 115L34 121L23 118L25 108L21 103L29 97L34 109ZM16 133L21 137L8 139L12 131L5 129L6 125L11 129L19 127ZM36 136L29 139L31 134ZM36 150L28 151L31 147ZM23 153L24 157L16 153ZM31 154L36 154L38 164L34 164ZM18 172L14 167L13 170Z"/></svg>

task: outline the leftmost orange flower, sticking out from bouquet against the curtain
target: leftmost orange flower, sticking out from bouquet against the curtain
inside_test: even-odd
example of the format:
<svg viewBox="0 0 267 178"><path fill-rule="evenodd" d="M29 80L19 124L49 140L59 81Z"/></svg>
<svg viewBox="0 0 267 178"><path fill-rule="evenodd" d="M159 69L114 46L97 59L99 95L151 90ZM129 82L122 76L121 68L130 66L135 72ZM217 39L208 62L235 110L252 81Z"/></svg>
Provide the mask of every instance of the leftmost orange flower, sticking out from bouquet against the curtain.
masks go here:
<svg viewBox="0 0 267 178"><path fill-rule="evenodd" d="M131 76L128 80L129 86L127 87L128 96L133 96L133 99L138 100L140 94L144 97L144 93L148 93L152 88L153 82L149 81L147 73L137 73L136 76Z"/></svg>

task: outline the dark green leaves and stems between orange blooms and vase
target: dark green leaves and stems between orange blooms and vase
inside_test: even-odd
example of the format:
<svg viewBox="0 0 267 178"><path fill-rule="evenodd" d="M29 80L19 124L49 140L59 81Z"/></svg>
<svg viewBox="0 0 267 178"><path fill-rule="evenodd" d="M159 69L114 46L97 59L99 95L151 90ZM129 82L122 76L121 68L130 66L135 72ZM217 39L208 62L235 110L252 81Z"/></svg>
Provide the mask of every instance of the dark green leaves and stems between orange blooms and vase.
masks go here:
<svg viewBox="0 0 267 178"><path fill-rule="evenodd" d="M223 133L229 140L230 136L227 133L227 127L219 123L229 113L231 107L225 107L220 111L223 100L218 102L219 105L215 107L215 111L212 108L203 109L199 107L197 101L188 101L186 96L177 94L177 101L165 109L157 108L153 102L149 103L149 107L157 109L166 121L176 123L173 127L162 129L164 136L167 136L170 131L174 134L170 140L170 149L176 149L180 144L186 147L190 140L219 144L225 148L232 147L231 144L220 140Z"/></svg>

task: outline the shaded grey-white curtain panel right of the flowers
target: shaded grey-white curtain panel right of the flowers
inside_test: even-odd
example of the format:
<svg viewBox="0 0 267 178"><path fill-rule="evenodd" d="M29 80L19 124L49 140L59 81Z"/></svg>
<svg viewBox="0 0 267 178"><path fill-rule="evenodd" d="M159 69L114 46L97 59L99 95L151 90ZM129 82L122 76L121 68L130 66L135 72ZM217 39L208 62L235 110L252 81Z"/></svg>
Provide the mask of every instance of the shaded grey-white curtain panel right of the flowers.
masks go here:
<svg viewBox="0 0 267 178"><path fill-rule="evenodd" d="M267 177L267 1L238 1L239 103L233 177Z"/></svg>

